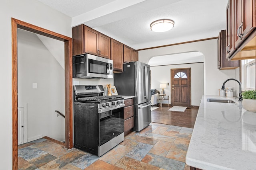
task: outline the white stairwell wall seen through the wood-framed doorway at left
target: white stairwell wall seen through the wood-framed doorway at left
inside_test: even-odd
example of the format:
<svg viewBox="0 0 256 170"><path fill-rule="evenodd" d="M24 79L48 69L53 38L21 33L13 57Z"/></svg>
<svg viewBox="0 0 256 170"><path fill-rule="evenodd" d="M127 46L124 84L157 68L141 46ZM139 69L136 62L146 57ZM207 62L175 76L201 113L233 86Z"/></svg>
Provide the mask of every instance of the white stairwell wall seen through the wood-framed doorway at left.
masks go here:
<svg viewBox="0 0 256 170"><path fill-rule="evenodd" d="M61 43L64 52L64 42ZM65 119L55 112L65 114L64 75L64 69L38 36L19 29L18 107L25 107L25 142L44 136L65 140ZM36 89L32 83L37 83Z"/></svg>

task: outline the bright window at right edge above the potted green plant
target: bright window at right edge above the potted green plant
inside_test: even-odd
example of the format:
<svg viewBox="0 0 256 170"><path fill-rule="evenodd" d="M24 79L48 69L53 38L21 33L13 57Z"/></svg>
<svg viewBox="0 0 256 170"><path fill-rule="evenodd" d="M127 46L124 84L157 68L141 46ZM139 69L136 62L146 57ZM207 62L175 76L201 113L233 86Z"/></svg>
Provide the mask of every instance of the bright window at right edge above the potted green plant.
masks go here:
<svg viewBox="0 0 256 170"><path fill-rule="evenodd" d="M245 60L246 89L255 89L255 59Z"/></svg>

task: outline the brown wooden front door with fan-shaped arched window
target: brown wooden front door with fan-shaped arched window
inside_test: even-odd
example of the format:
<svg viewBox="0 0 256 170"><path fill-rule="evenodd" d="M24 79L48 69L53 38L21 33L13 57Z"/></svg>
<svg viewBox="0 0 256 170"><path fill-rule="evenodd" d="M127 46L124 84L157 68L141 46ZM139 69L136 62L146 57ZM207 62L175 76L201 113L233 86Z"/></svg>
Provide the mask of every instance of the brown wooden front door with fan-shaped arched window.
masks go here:
<svg viewBox="0 0 256 170"><path fill-rule="evenodd" d="M171 69L172 106L190 107L190 68Z"/></svg>

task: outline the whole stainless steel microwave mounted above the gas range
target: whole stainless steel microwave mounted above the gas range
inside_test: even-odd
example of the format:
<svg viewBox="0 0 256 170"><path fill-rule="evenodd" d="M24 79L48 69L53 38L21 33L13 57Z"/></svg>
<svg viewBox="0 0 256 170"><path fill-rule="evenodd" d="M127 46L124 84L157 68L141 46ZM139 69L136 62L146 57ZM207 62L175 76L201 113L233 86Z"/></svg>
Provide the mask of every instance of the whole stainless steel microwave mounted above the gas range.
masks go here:
<svg viewBox="0 0 256 170"><path fill-rule="evenodd" d="M113 78L113 60L90 54L73 56L73 78Z"/></svg>

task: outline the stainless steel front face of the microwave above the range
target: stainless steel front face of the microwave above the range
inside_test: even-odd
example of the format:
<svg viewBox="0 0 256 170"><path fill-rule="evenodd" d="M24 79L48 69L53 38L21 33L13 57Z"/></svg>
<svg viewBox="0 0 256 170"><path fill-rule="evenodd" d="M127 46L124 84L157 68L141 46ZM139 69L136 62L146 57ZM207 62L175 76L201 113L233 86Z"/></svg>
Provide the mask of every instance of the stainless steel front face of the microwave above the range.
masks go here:
<svg viewBox="0 0 256 170"><path fill-rule="evenodd" d="M113 61L95 55L86 54L88 77L113 78Z"/></svg>

